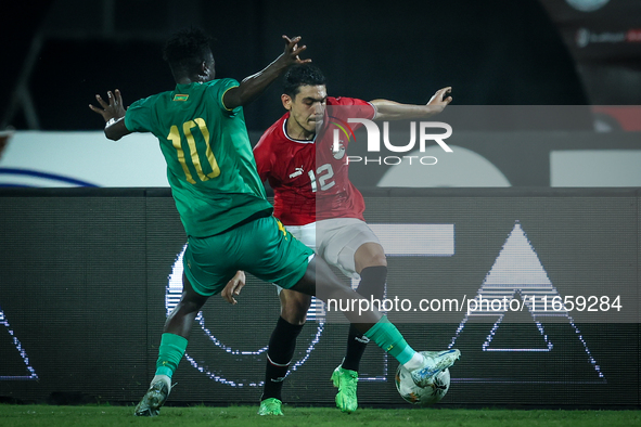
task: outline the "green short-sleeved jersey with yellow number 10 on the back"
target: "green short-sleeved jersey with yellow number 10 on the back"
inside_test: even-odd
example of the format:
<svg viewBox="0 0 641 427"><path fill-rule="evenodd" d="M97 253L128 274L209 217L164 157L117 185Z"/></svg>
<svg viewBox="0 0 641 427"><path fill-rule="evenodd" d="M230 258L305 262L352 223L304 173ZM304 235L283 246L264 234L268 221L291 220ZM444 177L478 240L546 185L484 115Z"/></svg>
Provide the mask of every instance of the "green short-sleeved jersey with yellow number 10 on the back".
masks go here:
<svg viewBox="0 0 641 427"><path fill-rule="evenodd" d="M188 235L206 237L257 212L271 212L245 127L243 108L228 109L233 79L177 85L134 102L130 131L152 132L167 161L167 179Z"/></svg>

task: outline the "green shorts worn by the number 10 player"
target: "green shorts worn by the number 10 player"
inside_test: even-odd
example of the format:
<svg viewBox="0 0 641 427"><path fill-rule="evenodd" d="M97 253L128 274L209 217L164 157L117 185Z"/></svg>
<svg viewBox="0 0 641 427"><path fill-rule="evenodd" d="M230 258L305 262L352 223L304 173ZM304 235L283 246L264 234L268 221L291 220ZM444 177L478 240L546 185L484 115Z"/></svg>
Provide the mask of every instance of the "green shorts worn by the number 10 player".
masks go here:
<svg viewBox="0 0 641 427"><path fill-rule="evenodd" d="M214 236L189 237L182 263L193 289L211 296L238 270L289 289L303 277L312 255L270 216Z"/></svg>

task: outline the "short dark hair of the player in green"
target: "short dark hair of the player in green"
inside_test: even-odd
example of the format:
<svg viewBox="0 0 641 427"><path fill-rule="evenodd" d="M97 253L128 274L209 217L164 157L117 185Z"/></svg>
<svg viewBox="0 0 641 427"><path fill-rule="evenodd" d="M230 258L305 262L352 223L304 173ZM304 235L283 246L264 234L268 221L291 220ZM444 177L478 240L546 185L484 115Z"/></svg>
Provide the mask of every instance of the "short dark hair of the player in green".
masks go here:
<svg viewBox="0 0 641 427"><path fill-rule="evenodd" d="M201 28L189 27L175 33L165 43L163 60L169 63L174 75L190 75L200 72L207 61L211 38Z"/></svg>

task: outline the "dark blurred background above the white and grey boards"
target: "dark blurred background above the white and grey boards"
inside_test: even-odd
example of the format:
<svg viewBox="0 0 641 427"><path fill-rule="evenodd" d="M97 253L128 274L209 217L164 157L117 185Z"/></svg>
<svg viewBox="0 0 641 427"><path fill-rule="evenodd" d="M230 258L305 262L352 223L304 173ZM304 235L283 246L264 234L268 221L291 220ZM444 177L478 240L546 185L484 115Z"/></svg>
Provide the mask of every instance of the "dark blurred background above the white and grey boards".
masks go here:
<svg viewBox="0 0 641 427"><path fill-rule="evenodd" d="M97 93L119 88L130 104L171 90L161 50L188 25L216 38L218 77L264 68L285 34L303 36L335 95L425 103L452 86L456 105L641 104L638 0L33 0L3 15L0 130L98 130ZM280 117L279 94L246 108L249 130ZM629 108L600 113L641 127Z"/></svg>

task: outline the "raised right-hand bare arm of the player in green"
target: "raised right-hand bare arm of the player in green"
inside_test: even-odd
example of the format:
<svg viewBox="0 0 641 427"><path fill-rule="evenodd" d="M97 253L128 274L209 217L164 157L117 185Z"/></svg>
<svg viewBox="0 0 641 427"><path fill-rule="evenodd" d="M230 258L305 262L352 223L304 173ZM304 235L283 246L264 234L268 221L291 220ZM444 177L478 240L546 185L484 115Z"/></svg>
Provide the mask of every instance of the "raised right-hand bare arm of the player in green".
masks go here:
<svg viewBox="0 0 641 427"><path fill-rule="evenodd" d="M230 89L225 93L222 102L227 108L233 109L254 101L290 65L311 62L311 60L300 60L298 56L307 49L306 46L298 48L300 37L290 39L287 36L283 36L283 39L285 40L285 51L274 62L264 70L246 77L238 88Z"/></svg>

